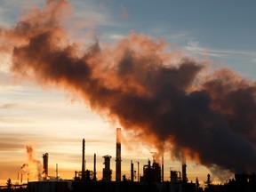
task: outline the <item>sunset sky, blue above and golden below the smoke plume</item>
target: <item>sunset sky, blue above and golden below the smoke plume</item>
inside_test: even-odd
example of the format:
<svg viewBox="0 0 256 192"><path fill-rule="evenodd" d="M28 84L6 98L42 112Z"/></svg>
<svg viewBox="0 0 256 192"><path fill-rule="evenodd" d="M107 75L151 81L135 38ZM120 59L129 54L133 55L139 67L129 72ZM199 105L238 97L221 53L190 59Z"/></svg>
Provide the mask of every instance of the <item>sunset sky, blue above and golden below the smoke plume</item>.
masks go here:
<svg viewBox="0 0 256 192"><path fill-rule="evenodd" d="M254 2L242 1L69 1L72 9L62 23L70 42L84 47L99 42L117 44L130 34L163 39L168 51L206 60L209 70L230 68L248 81L256 77L256 26ZM44 1L3 0L0 2L1 28L13 28L32 8L42 9ZM1 34L1 44L3 44ZM3 47L1 47L3 48ZM35 159L49 153L50 174L59 165L60 177L72 179L81 169L82 140L86 141L86 168L92 170L97 154L97 177L101 179L102 156L112 156L115 172L116 127L122 127L84 100L80 92L61 86L45 85L12 72L12 55L0 55L0 180L17 180L20 166L28 162L26 146L35 149ZM129 132L123 130L125 135ZM186 133L185 133L186 134ZM127 136L128 137L128 136ZM128 139L127 139L128 140ZM156 148L145 143L125 141L122 147L122 173L130 175L130 161L147 164ZM164 152L164 179L169 169L179 170L180 162ZM211 172L204 165L188 160L188 180L202 182ZM26 170L22 170L26 174ZM115 178L115 175L113 175ZM25 179L26 180L26 179ZM33 180L33 179L31 179ZM212 175L212 180L220 181Z"/></svg>

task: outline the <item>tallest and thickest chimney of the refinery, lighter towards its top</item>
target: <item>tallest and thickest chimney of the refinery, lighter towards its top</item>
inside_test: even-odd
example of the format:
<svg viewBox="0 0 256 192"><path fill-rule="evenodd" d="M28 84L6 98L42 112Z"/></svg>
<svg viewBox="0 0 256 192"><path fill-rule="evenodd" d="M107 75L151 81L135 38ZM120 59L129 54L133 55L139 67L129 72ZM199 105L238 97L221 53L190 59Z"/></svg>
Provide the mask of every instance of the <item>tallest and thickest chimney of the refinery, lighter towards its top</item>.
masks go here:
<svg viewBox="0 0 256 192"><path fill-rule="evenodd" d="M121 181L121 128L116 128L116 182Z"/></svg>

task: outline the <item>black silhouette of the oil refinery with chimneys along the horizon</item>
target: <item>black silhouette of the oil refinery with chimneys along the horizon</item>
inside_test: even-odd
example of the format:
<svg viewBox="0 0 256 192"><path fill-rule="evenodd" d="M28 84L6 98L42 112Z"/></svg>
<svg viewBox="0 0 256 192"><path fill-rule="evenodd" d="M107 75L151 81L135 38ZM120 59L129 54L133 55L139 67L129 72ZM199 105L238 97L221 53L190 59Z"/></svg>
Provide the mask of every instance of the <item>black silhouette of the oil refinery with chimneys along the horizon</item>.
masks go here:
<svg viewBox="0 0 256 192"><path fill-rule="evenodd" d="M235 174L235 179L229 180L225 184L212 184L211 175L207 175L204 186L196 182L188 182L187 164L181 162L181 172L170 169L170 181L164 180L164 156L162 163L148 160L148 164L143 165L143 172L140 176L139 162L138 172L134 170L134 164L131 161L131 176L127 180L122 175L122 158L121 158L121 128L116 128L116 180L112 180L112 169L110 161L112 156L102 156L104 159L104 168L102 170L102 178L96 177L96 154L93 156L93 170L85 170L85 140L82 145L82 168L81 171L75 171L74 180L62 180L58 174L58 164L56 164L56 177L48 175L49 154L43 154L43 172L39 181L28 181L23 184L22 173L18 172L18 180L20 183L8 187L0 188L0 191L20 191L20 192L251 192L256 191L256 175L252 174ZM20 169L28 166L23 164ZM137 177L137 180L134 178ZM11 180L9 180L11 182Z"/></svg>

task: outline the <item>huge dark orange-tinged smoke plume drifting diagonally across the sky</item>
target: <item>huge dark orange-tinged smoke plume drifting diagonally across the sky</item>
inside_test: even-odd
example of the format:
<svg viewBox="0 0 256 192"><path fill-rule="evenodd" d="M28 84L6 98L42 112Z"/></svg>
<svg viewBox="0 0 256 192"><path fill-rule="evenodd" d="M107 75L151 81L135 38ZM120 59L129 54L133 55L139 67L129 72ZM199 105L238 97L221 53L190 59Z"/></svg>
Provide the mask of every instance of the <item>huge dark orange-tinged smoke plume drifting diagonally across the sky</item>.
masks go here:
<svg viewBox="0 0 256 192"><path fill-rule="evenodd" d="M159 151L165 144L172 156L181 151L208 167L256 170L254 82L227 68L203 76L203 62L166 52L163 39L143 34L82 52L60 24L69 7L47 1L14 28L0 29L12 72L80 93Z"/></svg>

